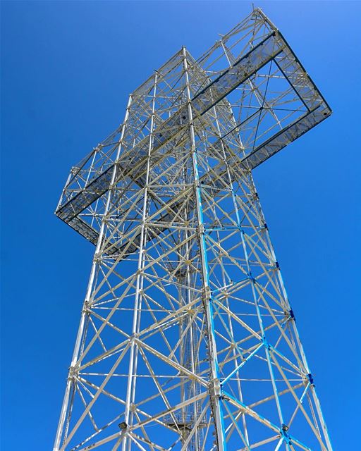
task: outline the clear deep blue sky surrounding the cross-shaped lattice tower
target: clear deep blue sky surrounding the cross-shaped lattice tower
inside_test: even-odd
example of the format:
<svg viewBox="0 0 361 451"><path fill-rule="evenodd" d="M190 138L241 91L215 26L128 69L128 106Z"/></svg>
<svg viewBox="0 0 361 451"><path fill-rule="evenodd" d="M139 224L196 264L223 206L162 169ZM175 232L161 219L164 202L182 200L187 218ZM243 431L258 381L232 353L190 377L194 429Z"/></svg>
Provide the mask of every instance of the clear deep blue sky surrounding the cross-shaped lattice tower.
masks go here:
<svg viewBox="0 0 361 451"><path fill-rule="evenodd" d="M358 1L255 1L334 114L254 172L335 451L360 446ZM1 2L1 450L51 450L94 247L54 216L128 94L250 1ZM357 445L358 444L358 445ZM230 450L233 451L233 450Z"/></svg>

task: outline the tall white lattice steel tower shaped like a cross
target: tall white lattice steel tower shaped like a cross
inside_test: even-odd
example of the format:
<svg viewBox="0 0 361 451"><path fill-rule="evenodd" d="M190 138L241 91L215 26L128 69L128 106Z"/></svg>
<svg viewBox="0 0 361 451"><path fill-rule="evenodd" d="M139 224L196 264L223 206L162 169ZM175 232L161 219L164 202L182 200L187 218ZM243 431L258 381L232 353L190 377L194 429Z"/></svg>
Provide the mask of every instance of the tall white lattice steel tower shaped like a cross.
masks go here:
<svg viewBox="0 0 361 451"><path fill-rule="evenodd" d="M331 451L252 180L330 114L259 9L130 94L56 210L96 249L54 450Z"/></svg>

